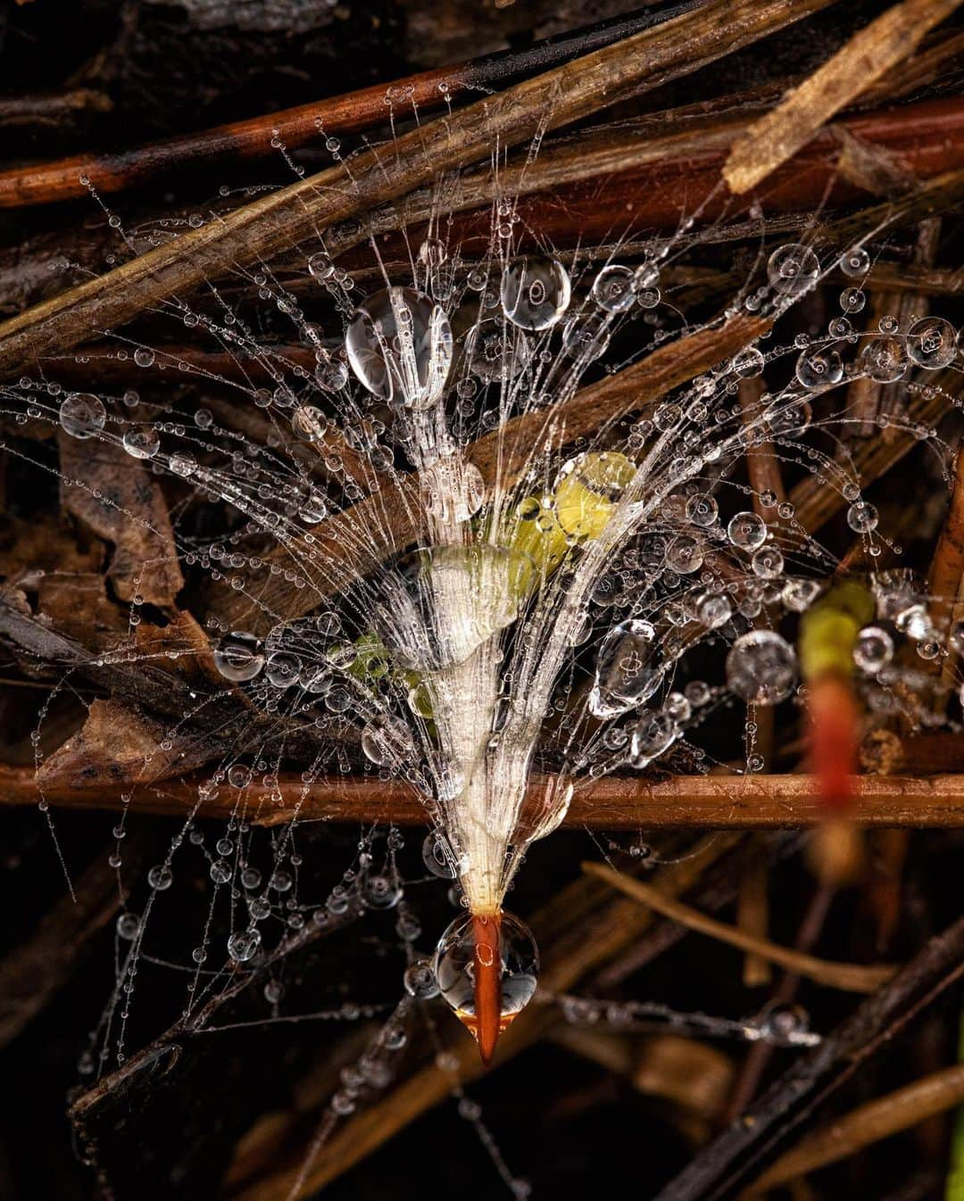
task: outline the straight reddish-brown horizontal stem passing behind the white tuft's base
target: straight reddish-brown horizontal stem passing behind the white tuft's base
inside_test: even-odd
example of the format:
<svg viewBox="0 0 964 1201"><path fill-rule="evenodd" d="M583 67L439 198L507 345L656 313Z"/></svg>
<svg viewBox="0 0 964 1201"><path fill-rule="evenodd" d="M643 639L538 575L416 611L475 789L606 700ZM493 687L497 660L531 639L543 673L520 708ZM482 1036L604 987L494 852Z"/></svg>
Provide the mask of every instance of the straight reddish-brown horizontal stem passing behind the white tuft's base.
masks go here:
<svg viewBox="0 0 964 1201"><path fill-rule="evenodd" d="M69 779L46 779L44 800L65 808L125 807L131 794L137 813L180 817L197 805L198 787L209 776L184 776L157 784L84 787ZM911 778L858 776L853 781L853 819L864 826L964 826L964 775ZM281 799L273 800L272 794ZM543 801L545 781L534 777L531 796ZM0 805L36 803L41 794L28 767L0 767ZM281 776L278 784L251 783L240 794L224 785L208 796L201 817L236 815L238 802L256 825L302 821L393 821L423 825L427 809L416 791L401 781L334 777L305 784L298 776ZM810 776L671 776L651 783L609 776L587 782L576 794L565 825L595 830L636 830L656 826L713 829L779 829L810 826L823 815Z"/></svg>

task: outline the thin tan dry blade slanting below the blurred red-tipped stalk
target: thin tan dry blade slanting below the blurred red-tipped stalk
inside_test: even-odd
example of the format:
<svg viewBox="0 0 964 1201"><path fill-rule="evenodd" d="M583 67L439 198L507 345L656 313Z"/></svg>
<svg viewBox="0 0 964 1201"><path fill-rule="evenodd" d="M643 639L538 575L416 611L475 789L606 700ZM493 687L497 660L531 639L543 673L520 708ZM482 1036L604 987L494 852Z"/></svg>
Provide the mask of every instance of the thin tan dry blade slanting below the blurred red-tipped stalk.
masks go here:
<svg viewBox="0 0 964 1201"><path fill-rule="evenodd" d="M755 938L743 930L727 926L722 921L716 921L715 918L708 918L706 914L691 909L690 906L683 904L680 901L662 896L656 889L633 879L631 876L614 872L602 864L583 864L583 871L605 880L611 888L618 889L632 897L633 901L649 906L650 909L655 909L665 918L672 918L673 921L679 921L684 926L689 926L690 930L700 931L701 934L708 934L710 938L718 938L731 946L738 946L742 951L758 955L770 963L779 963L789 972L796 972L797 975L807 976L828 988L841 988L845 992L876 992L897 970L891 964L862 967L855 963L831 963L828 960L804 955L787 946L770 943L766 938Z"/></svg>

